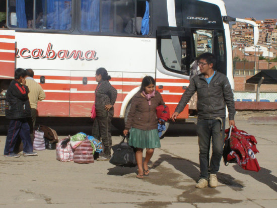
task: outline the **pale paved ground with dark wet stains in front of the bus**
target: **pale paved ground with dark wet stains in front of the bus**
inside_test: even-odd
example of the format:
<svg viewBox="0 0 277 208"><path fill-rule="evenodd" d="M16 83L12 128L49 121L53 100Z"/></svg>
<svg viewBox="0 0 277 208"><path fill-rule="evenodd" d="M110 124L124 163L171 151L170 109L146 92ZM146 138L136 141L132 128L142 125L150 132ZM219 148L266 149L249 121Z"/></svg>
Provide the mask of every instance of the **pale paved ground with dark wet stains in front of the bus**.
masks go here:
<svg viewBox="0 0 277 208"><path fill-rule="evenodd" d="M237 127L256 136L261 170L222 162L216 189L194 187L199 175L195 125L174 124L161 140L162 148L155 150L150 176L142 180L135 178L136 168L108 161L58 162L54 150L37 157L1 155L0 207L276 207L277 124L237 121ZM113 144L120 138L114 132ZM2 134L1 154L5 140Z"/></svg>

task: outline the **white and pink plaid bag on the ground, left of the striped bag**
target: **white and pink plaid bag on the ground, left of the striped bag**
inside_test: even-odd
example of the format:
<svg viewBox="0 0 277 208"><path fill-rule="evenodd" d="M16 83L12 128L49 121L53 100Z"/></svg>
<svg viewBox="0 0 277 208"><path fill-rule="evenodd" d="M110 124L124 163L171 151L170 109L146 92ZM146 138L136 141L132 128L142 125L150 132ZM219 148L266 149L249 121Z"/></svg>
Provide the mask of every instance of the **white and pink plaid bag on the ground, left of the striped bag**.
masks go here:
<svg viewBox="0 0 277 208"><path fill-rule="evenodd" d="M56 147L56 156L60 162L73 161L73 149L70 145L70 138L67 137L59 141Z"/></svg>

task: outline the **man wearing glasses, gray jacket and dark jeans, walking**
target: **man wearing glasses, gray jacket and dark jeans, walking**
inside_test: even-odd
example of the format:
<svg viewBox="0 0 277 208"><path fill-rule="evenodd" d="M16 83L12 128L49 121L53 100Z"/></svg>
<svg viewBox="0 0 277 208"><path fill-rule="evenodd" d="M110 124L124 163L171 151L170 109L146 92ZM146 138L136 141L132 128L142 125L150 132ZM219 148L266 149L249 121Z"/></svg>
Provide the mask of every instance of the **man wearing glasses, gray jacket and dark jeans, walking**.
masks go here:
<svg viewBox="0 0 277 208"><path fill-rule="evenodd" d="M190 80L189 86L171 118L175 121L191 96L197 92L200 176L195 187L204 188L209 181L210 187L216 188L218 183L216 174L219 171L224 145L226 105L230 126L235 125L236 110L228 78L214 69L216 66L215 56L212 53L203 53L197 59L201 74ZM209 163L211 141L213 153Z"/></svg>

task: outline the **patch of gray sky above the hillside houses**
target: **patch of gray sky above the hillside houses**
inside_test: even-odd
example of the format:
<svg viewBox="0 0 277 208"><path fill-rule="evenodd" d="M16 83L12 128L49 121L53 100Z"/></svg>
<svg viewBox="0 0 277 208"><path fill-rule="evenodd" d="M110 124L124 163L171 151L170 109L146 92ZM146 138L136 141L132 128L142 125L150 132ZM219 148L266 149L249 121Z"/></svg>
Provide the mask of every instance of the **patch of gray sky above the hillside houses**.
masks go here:
<svg viewBox="0 0 277 208"><path fill-rule="evenodd" d="M277 0L223 0L227 15L241 18L254 17L256 20L277 19Z"/></svg>

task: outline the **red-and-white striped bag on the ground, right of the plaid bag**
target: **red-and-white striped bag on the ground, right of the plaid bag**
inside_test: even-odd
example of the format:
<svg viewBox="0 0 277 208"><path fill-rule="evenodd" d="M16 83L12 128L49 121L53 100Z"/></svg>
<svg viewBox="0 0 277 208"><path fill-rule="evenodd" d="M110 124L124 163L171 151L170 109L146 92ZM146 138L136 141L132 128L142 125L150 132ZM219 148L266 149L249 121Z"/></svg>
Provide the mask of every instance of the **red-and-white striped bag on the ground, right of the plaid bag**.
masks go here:
<svg viewBox="0 0 277 208"><path fill-rule="evenodd" d="M75 149L73 160L75 163L94 163L93 148L94 145L88 139L82 141L82 143Z"/></svg>

